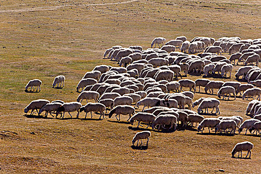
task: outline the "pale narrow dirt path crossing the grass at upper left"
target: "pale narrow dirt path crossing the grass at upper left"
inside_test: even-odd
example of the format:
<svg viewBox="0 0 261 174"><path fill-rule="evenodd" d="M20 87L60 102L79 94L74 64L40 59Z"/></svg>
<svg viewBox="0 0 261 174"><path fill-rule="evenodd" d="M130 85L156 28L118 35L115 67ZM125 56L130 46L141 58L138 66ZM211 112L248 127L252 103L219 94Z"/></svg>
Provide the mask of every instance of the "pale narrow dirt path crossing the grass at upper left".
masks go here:
<svg viewBox="0 0 261 174"><path fill-rule="evenodd" d="M3 10L0 10L0 13L56 10L56 9L59 9L62 7L68 7L68 6L115 5L115 4L131 3L131 2L136 2L136 1L139 1L139 0L128 0L128 1L124 1L124 2L115 2L115 3L70 4L70 5L57 5L57 6L47 6L47 7L40 6L40 7L31 7L31 8L23 8L23 9L3 9Z"/></svg>

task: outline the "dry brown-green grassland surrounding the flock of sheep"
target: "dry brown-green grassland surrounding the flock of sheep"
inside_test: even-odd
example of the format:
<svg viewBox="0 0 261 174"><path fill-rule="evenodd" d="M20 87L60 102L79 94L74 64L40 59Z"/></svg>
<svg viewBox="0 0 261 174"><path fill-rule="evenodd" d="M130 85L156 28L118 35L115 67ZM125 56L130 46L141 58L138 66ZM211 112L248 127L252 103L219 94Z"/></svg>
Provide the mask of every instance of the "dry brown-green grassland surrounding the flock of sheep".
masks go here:
<svg viewBox="0 0 261 174"><path fill-rule="evenodd" d="M0 173L261 173L256 136L202 135L194 128L152 131L148 149L135 150L131 139L138 130L115 118L24 115L23 108L34 99L76 100L76 86L85 72L100 64L117 66L102 60L104 50L113 45L148 48L157 36L261 37L259 0L118 2L123 0L0 0ZM66 87L51 88L61 74ZM41 92L25 93L26 83L36 78L43 82ZM209 95L196 93L194 99L201 96ZM247 104L241 98L222 100L221 115L247 119ZM246 140L255 145L252 159L232 159L234 145Z"/></svg>

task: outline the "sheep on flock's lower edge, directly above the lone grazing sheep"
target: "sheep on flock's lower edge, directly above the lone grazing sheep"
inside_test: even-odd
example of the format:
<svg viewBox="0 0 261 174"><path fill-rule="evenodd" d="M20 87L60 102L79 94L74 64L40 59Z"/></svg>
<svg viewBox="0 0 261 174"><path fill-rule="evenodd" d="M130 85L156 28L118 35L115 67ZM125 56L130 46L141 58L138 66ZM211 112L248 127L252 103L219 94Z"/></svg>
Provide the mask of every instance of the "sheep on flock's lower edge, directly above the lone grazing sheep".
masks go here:
<svg viewBox="0 0 261 174"><path fill-rule="evenodd" d="M139 127L139 125L142 126L140 122L148 123L148 126L146 127L148 128L151 125L151 123L155 120L155 118L156 116L152 113L139 112L130 118L130 123L131 125L133 125L134 121L138 121L137 127Z"/></svg>

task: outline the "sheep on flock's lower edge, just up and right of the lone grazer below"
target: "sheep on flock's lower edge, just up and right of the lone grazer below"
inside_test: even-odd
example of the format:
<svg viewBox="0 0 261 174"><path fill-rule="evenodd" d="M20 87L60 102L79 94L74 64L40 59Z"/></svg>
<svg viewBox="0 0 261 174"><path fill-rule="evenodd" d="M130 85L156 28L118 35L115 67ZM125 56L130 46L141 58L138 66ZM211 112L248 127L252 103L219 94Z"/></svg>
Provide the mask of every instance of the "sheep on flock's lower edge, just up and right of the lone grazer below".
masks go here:
<svg viewBox="0 0 261 174"><path fill-rule="evenodd" d="M171 129L174 126L174 130L176 130L177 118L171 114L160 115L156 117L156 119L152 122L151 124L152 129L155 129L157 125L159 125L158 130L160 130L161 127L166 129L164 127L165 125L171 125L169 129Z"/></svg>

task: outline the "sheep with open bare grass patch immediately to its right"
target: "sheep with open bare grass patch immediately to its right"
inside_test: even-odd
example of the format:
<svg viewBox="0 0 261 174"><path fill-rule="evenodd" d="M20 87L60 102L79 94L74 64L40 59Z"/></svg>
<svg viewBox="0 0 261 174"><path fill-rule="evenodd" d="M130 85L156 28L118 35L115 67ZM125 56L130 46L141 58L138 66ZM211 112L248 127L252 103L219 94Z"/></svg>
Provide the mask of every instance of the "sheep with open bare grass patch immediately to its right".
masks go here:
<svg viewBox="0 0 261 174"><path fill-rule="evenodd" d="M201 113L201 112L203 112L203 109L206 108L207 113L208 113L208 108L216 108L215 114L217 114L217 112L218 112L218 114L220 114L219 107L218 107L219 104L220 104L220 101L218 99L206 98L206 99L202 100L201 103L199 104L199 106L197 108L197 112ZM212 111L211 111L211 113L212 113Z"/></svg>

